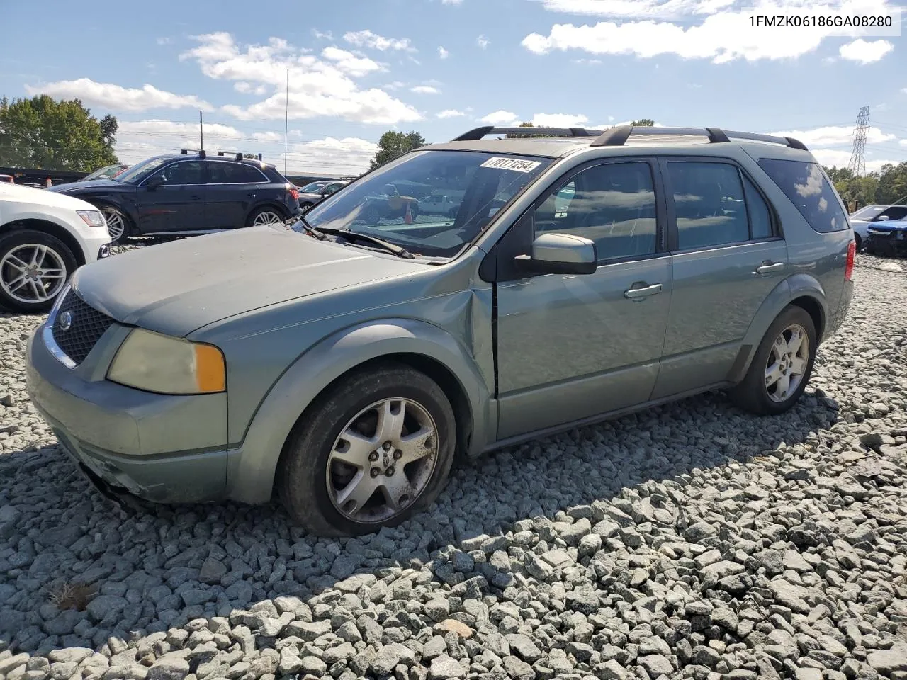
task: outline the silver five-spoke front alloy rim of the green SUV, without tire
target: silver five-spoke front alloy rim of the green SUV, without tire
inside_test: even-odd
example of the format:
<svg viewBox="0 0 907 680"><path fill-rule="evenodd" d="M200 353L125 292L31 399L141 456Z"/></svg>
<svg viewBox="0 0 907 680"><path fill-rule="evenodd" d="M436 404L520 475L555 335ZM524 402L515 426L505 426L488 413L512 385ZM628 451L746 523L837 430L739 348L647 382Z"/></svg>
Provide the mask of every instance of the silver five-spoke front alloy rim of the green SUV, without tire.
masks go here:
<svg viewBox="0 0 907 680"><path fill-rule="evenodd" d="M337 436L327 493L348 520L390 520L419 498L437 460L431 414L412 399L384 399L356 413Z"/></svg>

